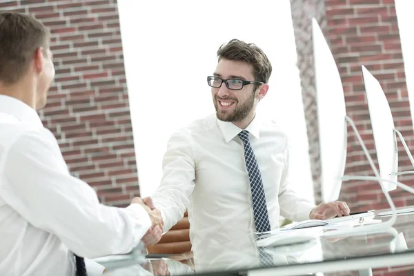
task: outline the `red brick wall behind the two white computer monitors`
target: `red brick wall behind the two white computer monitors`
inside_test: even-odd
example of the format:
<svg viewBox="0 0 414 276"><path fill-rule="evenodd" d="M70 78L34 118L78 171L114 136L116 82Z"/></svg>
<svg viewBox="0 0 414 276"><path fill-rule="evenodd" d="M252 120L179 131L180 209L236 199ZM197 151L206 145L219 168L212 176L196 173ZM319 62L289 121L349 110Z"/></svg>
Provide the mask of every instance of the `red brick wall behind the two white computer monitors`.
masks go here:
<svg viewBox="0 0 414 276"><path fill-rule="evenodd" d="M344 85L346 112L355 121L371 155L376 157L361 65L380 81L391 106L395 128L402 132L413 150L413 123L394 1L328 0L326 20L327 38ZM346 174L373 175L351 127L348 132ZM412 170L404 148L399 146L399 170ZM414 184L413 175L402 175L398 179L410 186ZM342 191L355 210L388 208L375 182L345 182ZM397 207L414 204L413 195L400 188L391 196Z"/></svg>

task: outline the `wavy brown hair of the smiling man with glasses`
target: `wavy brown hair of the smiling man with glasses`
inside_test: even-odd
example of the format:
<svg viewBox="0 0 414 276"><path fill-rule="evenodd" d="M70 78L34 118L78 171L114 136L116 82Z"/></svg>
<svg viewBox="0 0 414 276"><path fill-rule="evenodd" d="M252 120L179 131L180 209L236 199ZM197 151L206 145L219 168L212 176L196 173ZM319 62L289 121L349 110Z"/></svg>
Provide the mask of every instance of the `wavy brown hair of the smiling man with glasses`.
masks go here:
<svg viewBox="0 0 414 276"><path fill-rule="evenodd" d="M217 57L230 61L244 61L253 66L255 81L268 83L272 74L272 65L259 47L253 43L246 43L238 39L232 39L220 46Z"/></svg>

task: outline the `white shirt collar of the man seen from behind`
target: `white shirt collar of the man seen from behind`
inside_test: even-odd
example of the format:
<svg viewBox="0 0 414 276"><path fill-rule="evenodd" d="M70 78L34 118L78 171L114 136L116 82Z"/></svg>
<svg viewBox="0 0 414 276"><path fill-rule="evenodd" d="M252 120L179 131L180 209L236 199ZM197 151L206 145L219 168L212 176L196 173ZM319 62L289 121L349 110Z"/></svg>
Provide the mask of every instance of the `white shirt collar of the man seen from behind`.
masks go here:
<svg viewBox="0 0 414 276"><path fill-rule="evenodd" d="M43 126L36 110L13 97L0 95L0 113L12 115L24 124Z"/></svg>

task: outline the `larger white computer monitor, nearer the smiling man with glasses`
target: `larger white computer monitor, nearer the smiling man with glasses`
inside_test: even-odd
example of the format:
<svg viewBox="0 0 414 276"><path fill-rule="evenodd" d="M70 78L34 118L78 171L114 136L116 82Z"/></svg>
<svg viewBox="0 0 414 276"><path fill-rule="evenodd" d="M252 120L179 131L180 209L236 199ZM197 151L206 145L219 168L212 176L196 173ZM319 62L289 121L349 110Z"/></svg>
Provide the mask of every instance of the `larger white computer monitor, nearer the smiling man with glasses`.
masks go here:
<svg viewBox="0 0 414 276"><path fill-rule="evenodd" d="M341 191L346 162L344 89L335 59L315 18L312 33L322 199L334 201Z"/></svg>

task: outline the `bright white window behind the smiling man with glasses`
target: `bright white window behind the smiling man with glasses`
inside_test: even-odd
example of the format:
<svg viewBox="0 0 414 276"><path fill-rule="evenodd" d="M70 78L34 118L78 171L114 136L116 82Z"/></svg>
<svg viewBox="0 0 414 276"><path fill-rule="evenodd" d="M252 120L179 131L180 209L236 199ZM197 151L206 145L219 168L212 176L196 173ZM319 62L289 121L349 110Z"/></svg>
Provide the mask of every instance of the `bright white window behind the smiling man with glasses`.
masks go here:
<svg viewBox="0 0 414 276"><path fill-rule="evenodd" d="M272 62L270 90L258 108L288 132L290 182L313 200L289 1L118 3L141 196L159 186L172 132L214 112L206 76L219 46L237 38L255 43Z"/></svg>

